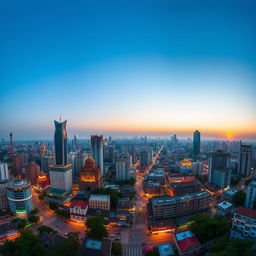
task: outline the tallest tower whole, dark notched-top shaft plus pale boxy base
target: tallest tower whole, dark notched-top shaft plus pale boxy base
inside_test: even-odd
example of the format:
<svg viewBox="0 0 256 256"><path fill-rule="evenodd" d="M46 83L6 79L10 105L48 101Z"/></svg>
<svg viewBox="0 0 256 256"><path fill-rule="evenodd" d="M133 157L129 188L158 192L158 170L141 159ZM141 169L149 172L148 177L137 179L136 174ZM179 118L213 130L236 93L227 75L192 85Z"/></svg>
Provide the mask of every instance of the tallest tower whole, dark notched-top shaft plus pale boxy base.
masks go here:
<svg viewBox="0 0 256 256"><path fill-rule="evenodd" d="M55 165L50 166L50 182L53 189L72 190L72 165L68 164L66 123L54 121Z"/></svg>

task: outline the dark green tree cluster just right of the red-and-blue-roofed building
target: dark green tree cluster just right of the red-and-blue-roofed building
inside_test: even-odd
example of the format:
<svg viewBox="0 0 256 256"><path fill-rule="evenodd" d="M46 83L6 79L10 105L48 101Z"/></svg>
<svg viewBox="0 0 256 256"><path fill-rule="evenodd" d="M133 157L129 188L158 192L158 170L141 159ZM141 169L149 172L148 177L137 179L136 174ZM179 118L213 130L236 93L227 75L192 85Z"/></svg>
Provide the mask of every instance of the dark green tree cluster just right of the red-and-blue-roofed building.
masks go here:
<svg viewBox="0 0 256 256"><path fill-rule="evenodd" d="M230 227L230 223L222 215L210 217L205 214L195 214L190 224L192 232L202 243L225 235Z"/></svg>

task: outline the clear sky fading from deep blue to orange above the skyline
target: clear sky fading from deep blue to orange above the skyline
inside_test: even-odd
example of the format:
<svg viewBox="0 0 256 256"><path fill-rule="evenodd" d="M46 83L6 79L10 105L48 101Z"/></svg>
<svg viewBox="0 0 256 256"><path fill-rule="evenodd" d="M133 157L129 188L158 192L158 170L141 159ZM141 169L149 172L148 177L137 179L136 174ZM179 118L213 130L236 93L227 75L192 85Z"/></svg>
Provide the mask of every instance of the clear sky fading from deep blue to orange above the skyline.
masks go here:
<svg viewBox="0 0 256 256"><path fill-rule="evenodd" d="M256 1L0 5L0 138L256 140Z"/></svg>

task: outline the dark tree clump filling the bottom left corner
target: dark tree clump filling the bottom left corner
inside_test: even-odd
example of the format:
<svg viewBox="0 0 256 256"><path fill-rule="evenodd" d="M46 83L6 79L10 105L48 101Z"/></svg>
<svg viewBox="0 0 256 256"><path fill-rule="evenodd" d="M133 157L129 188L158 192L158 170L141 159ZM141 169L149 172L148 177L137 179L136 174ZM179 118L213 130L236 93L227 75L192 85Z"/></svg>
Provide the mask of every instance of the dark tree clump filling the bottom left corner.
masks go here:
<svg viewBox="0 0 256 256"><path fill-rule="evenodd" d="M25 230L15 241L6 242L0 247L0 255L44 256L44 251L38 238L30 230Z"/></svg>

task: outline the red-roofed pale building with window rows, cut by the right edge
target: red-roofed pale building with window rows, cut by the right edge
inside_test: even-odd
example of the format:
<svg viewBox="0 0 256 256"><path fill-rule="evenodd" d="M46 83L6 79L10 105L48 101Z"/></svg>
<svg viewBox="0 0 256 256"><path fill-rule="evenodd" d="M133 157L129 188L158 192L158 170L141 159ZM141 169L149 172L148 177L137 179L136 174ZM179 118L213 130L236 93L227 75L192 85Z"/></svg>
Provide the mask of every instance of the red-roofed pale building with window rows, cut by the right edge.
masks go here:
<svg viewBox="0 0 256 256"><path fill-rule="evenodd" d="M256 239L256 210L240 207L235 211L230 237Z"/></svg>

